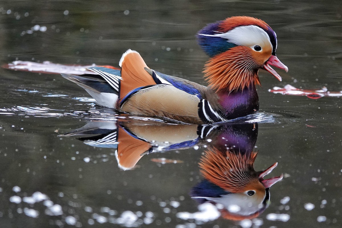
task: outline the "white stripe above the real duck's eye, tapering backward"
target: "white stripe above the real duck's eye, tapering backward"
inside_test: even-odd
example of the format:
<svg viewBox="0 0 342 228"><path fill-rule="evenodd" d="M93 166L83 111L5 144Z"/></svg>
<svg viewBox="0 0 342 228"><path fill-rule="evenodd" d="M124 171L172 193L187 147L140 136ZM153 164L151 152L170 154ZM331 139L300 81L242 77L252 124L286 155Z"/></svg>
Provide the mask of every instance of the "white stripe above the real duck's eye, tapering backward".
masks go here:
<svg viewBox="0 0 342 228"><path fill-rule="evenodd" d="M253 48L255 45L265 46L271 45L271 40L268 34L260 27L255 25L246 25L236 27L226 33L218 33L214 35L199 34L208 37L222 37L227 39L228 42L236 45L247 46Z"/></svg>

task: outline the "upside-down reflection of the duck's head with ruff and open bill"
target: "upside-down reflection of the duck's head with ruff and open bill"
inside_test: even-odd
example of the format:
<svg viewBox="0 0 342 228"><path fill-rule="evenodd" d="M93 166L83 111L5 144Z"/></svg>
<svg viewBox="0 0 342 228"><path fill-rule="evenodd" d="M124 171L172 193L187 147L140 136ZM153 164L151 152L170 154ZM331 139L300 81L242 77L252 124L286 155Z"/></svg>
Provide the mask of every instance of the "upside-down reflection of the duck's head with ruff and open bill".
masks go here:
<svg viewBox="0 0 342 228"><path fill-rule="evenodd" d="M193 198L219 203L221 215L226 219L257 217L268 205L269 188L283 175L264 180L277 163L256 172L253 168L256 157L257 152L242 155L210 149L199 163L205 181L193 188Z"/></svg>

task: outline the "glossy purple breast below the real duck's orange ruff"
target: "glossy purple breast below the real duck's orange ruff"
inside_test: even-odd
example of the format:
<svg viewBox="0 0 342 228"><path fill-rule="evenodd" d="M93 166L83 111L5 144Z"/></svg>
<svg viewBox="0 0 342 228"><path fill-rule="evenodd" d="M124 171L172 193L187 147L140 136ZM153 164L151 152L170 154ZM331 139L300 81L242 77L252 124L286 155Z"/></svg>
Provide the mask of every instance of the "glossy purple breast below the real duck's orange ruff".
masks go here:
<svg viewBox="0 0 342 228"><path fill-rule="evenodd" d="M226 119L256 114L259 111L259 98L254 84L231 92L220 90L216 94Z"/></svg>

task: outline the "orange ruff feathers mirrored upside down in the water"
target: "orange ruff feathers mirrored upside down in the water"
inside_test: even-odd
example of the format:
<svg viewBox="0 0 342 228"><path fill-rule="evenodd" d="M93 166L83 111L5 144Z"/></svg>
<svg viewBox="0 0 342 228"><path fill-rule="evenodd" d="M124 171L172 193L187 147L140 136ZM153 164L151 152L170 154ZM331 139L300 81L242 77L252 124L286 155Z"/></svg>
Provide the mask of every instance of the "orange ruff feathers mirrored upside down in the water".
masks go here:
<svg viewBox="0 0 342 228"><path fill-rule="evenodd" d="M241 193L247 185L257 185L259 182L253 163L258 152L250 155L221 152L216 148L206 152L199 162L200 172L211 183L231 193Z"/></svg>

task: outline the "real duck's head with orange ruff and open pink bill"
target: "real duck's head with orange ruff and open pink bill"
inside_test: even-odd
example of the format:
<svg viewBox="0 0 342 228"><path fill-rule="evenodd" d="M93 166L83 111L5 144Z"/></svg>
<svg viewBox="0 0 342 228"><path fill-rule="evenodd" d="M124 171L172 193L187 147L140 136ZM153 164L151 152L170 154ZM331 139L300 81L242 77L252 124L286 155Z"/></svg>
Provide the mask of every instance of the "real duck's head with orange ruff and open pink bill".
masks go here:
<svg viewBox="0 0 342 228"><path fill-rule="evenodd" d="M276 56L277 35L263 20L228 17L204 27L197 39L210 56L203 72L215 89L233 91L260 84L259 69L281 81L280 75L269 65L288 71Z"/></svg>

